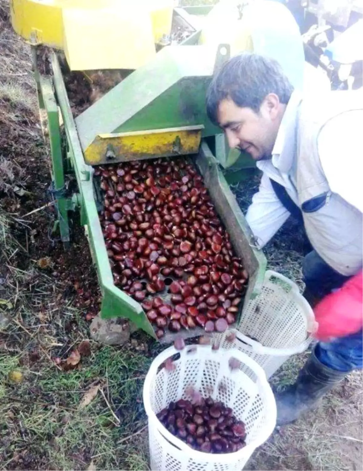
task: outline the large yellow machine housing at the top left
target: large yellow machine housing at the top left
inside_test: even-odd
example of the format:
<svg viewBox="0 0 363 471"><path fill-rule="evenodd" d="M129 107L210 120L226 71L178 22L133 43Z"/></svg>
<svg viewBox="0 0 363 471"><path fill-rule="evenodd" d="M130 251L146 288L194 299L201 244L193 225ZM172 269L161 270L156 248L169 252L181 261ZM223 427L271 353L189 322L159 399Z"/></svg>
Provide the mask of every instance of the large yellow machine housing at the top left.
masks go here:
<svg viewBox="0 0 363 471"><path fill-rule="evenodd" d="M65 51L71 70L136 69L170 34L173 0L12 0L15 31Z"/></svg>

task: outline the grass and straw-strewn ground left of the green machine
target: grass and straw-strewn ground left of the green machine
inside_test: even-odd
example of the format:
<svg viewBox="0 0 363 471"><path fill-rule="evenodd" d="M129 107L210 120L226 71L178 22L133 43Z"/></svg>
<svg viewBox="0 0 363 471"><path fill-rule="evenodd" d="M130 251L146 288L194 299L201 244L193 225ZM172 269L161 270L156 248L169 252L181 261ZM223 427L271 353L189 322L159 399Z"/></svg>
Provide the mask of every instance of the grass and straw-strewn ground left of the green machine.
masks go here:
<svg viewBox="0 0 363 471"><path fill-rule="evenodd" d="M75 369L59 371L53 361L68 357L89 337L89 324L84 310L64 293L63 282L52 272L56 268L37 265L44 251L44 246L37 248L43 240L35 222L39 219L21 221L22 212L34 209L19 205L18 198L27 204L27 195L12 191L14 183L24 183L19 178L24 177L24 156L25 178L32 162L44 161L48 168L48 158L33 114L30 49L12 31L4 0L0 30L0 134L5 143L0 148L0 191L6 195L0 200L0 278L5 279L0 299L13 305L7 309L11 323L0 332L0 416L5 419L0 421L0 469L147 470L142 386L151 357L130 345L117 349L91 342L90 356L82 355ZM49 175L47 179L46 186ZM53 258L52 264L57 261ZM21 373L21 382L11 381L14 371ZM95 384L97 396L80 410L81 399Z"/></svg>

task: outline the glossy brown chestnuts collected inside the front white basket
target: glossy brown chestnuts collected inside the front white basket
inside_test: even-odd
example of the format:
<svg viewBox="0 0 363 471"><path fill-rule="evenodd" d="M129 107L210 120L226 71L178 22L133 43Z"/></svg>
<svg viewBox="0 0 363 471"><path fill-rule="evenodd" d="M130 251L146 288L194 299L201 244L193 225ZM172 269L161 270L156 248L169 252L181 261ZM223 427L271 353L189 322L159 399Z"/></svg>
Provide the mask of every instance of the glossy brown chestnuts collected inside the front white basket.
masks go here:
<svg viewBox="0 0 363 471"><path fill-rule="evenodd" d="M212 398L198 404L179 399L162 409L157 418L170 433L205 453L233 453L246 446L246 430L230 407Z"/></svg>

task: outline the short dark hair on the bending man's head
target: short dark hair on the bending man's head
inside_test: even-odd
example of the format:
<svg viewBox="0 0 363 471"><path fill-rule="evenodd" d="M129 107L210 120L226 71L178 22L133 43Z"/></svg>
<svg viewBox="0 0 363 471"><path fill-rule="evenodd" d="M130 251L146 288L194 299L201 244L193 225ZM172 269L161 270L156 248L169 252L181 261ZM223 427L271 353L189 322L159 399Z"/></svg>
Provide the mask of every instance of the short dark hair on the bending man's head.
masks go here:
<svg viewBox="0 0 363 471"><path fill-rule="evenodd" d="M218 106L225 98L258 113L269 93L275 93L281 103L287 104L292 90L276 60L243 52L227 61L212 78L206 97L207 114L211 122L218 124Z"/></svg>

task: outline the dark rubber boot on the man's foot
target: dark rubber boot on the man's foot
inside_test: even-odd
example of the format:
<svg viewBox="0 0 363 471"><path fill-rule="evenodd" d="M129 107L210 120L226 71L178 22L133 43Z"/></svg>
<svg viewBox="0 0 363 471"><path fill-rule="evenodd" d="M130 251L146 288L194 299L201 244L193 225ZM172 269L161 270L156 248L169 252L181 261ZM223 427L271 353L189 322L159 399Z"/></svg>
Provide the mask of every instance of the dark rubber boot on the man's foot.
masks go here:
<svg viewBox="0 0 363 471"><path fill-rule="evenodd" d="M313 409L317 406L319 399L346 375L345 372L323 365L312 352L300 371L297 381L286 390L275 394L276 425L294 422L301 414Z"/></svg>

